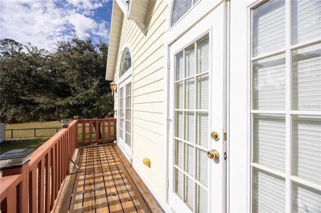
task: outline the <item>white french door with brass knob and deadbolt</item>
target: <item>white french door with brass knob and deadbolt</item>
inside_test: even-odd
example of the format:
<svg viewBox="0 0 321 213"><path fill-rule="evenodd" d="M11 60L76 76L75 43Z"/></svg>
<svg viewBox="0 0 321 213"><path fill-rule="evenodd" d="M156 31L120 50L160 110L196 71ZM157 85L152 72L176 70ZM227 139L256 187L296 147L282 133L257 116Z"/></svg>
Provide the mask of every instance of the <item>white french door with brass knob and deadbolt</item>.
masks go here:
<svg viewBox="0 0 321 213"><path fill-rule="evenodd" d="M170 46L169 203L176 212L226 207L224 6Z"/></svg>

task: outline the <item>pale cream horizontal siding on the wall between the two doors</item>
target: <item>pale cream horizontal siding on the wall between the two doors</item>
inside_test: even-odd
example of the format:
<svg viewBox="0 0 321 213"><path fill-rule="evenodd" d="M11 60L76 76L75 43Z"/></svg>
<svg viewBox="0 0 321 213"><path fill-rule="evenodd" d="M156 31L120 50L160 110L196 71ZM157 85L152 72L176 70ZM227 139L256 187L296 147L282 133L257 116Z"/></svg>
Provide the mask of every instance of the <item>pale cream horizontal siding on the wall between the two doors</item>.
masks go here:
<svg viewBox="0 0 321 213"><path fill-rule="evenodd" d="M125 46L132 56L132 164L153 193L164 197L164 33L168 1L150 1L145 29L123 16L114 79ZM118 94L115 93L115 110ZM118 115L118 114L117 114ZM150 159L150 168L143 158Z"/></svg>

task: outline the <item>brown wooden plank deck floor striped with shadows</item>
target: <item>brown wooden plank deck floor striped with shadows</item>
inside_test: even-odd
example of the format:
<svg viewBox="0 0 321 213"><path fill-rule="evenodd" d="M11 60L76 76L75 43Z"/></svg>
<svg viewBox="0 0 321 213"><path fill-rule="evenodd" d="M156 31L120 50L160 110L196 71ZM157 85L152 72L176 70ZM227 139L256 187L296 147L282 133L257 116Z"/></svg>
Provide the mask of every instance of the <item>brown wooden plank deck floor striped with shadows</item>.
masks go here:
<svg viewBox="0 0 321 213"><path fill-rule="evenodd" d="M164 212L116 144L80 147L55 212Z"/></svg>

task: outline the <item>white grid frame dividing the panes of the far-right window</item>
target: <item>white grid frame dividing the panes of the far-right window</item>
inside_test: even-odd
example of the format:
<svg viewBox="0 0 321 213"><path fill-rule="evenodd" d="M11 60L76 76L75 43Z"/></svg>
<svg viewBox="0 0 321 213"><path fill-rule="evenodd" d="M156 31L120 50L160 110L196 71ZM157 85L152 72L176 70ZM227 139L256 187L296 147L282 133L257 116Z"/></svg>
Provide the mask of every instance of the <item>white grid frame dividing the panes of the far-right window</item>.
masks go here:
<svg viewBox="0 0 321 213"><path fill-rule="evenodd" d="M251 182L251 193L250 193L250 209L253 211L253 168L260 169L262 171L269 172L273 175L277 175L279 177L282 177L285 179L285 211L291 212L292 210L292 185L293 184L302 184L307 187L311 187L314 189L319 189L320 186L317 183L313 183L311 181L302 179L300 177L296 177L292 175L292 122L293 122L293 115L316 115L321 116L321 111L304 111L304 110L293 110L292 109L292 51L295 49L299 49L302 47L306 47L309 45L315 45L317 43L321 42L321 38L317 39L311 39L307 40L301 43L292 44L292 4L291 1L285 0L285 46L276 49L274 51L268 52L268 53L262 53L258 54L257 56L254 56L254 21L253 21L253 11L254 9L260 7L267 1L260 1L258 3L255 3L249 7L248 14L249 14L249 21L250 21L250 55L249 55L249 61L250 61L250 182ZM265 59L271 56L285 54L285 109L284 110L265 110L265 109L254 109L254 70L253 70L253 63L255 61L258 61L260 59ZM285 171L278 171L269 167L266 167L264 165L260 165L258 163L254 162L254 151L253 151L253 128L254 128L254 115L258 114L267 114L267 115L284 115L285 116Z"/></svg>

